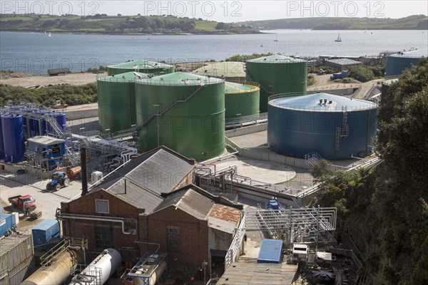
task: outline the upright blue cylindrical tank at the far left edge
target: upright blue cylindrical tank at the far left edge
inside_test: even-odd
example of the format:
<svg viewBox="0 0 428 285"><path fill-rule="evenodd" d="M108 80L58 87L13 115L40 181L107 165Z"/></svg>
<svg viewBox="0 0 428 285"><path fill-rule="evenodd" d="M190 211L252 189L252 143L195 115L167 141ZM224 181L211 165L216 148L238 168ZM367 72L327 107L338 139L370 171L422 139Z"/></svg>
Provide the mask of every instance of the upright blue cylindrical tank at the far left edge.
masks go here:
<svg viewBox="0 0 428 285"><path fill-rule="evenodd" d="M6 114L1 116L1 129L4 143L4 161L24 161L24 119L21 115Z"/></svg>

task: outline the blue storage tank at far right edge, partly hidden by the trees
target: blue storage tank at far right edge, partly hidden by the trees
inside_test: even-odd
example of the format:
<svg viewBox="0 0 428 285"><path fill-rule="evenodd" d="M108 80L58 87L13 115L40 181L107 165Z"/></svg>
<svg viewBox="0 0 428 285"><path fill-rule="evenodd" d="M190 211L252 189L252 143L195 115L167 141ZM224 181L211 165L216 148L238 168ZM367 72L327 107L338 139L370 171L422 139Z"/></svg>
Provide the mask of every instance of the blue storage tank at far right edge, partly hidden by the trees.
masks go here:
<svg viewBox="0 0 428 285"><path fill-rule="evenodd" d="M399 76L404 69L416 66L421 58L427 56L427 48L389 55L385 64L385 76Z"/></svg>

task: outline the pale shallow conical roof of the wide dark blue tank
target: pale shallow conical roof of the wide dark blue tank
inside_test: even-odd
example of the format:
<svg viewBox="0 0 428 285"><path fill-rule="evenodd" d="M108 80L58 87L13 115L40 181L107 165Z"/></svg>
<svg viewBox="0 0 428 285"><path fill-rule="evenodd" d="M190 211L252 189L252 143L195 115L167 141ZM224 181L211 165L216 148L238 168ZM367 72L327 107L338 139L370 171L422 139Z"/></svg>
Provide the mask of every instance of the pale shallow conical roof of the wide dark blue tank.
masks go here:
<svg viewBox="0 0 428 285"><path fill-rule="evenodd" d="M320 104L320 100L322 100L322 104ZM324 103L325 100L327 100L327 103ZM332 102L330 103L330 101ZM345 96L328 93L277 98L270 100L269 105L285 109L317 112L342 112L345 109L350 112L377 108L377 104L371 101L347 98Z"/></svg>

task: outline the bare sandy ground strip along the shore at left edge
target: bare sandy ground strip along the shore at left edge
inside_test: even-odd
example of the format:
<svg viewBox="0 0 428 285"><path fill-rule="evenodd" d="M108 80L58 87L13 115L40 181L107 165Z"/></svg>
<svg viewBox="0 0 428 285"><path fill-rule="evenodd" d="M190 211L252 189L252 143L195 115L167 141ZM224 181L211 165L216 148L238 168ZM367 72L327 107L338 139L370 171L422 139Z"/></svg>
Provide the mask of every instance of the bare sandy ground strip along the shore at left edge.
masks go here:
<svg viewBox="0 0 428 285"><path fill-rule="evenodd" d="M107 76L107 73L68 73L64 76L27 76L21 78L1 79L1 84L29 87L35 85L49 86L57 84L83 85L95 83L97 76Z"/></svg>

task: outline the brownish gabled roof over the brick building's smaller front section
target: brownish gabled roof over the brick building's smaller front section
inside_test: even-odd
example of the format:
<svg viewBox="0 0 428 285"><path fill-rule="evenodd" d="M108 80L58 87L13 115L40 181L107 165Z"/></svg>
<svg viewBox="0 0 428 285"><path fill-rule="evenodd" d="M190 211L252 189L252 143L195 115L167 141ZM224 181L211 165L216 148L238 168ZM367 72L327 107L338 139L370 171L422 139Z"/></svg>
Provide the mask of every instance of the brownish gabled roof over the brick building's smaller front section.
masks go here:
<svg viewBox="0 0 428 285"><path fill-rule="evenodd" d="M165 198L154 212L173 206L197 219L205 219L213 204L212 199L200 195L195 190L188 189Z"/></svg>

